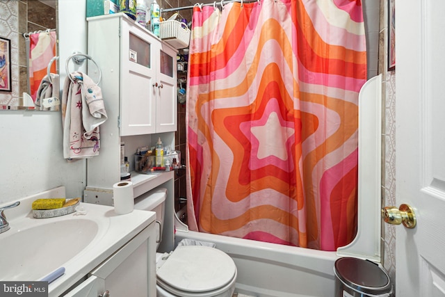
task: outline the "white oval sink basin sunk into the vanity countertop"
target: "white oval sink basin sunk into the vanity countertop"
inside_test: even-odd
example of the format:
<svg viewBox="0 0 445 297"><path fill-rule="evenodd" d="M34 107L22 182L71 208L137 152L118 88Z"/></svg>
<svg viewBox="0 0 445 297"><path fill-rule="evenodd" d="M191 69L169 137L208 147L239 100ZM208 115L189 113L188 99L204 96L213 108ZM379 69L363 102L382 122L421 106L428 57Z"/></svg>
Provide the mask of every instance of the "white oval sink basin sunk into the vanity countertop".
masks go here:
<svg viewBox="0 0 445 297"><path fill-rule="evenodd" d="M78 255L98 229L93 220L70 218L5 232L0 263L7 269L1 279L39 280Z"/></svg>

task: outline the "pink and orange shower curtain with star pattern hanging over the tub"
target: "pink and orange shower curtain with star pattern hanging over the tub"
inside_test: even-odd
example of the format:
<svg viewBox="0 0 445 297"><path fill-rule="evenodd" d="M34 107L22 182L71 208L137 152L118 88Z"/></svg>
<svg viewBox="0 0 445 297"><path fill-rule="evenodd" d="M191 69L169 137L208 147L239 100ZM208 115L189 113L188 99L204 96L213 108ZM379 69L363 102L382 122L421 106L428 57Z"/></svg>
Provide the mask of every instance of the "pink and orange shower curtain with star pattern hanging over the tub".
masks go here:
<svg viewBox="0 0 445 297"><path fill-rule="evenodd" d="M195 6L188 63L189 228L321 250L349 243L361 1Z"/></svg>

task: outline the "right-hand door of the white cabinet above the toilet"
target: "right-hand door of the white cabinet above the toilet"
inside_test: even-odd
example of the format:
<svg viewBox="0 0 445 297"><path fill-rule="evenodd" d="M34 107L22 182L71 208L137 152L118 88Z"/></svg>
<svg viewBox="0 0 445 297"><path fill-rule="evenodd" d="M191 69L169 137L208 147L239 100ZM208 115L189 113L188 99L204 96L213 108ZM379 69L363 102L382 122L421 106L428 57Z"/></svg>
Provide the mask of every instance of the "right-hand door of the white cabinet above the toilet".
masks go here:
<svg viewBox="0 0 445 297"><path fill-rule="evenodd" d="M156 133L177 130L177 66L176 51L161 44L157 81Z"/></svg>

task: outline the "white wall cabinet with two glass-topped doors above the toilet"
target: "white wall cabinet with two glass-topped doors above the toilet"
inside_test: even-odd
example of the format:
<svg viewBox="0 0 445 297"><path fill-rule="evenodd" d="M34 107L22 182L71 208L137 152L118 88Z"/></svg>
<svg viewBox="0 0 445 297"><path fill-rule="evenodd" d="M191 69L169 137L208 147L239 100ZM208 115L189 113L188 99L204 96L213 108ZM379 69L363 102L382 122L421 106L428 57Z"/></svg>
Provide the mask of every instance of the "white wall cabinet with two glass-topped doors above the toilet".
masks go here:
<svg viewBox="0 0 445 297"><path fill-rule="evenodd" d="M104 100L120 99L120 136L177 130L176 49L118 13L88 18L88 55L102 69Z"/></svg>

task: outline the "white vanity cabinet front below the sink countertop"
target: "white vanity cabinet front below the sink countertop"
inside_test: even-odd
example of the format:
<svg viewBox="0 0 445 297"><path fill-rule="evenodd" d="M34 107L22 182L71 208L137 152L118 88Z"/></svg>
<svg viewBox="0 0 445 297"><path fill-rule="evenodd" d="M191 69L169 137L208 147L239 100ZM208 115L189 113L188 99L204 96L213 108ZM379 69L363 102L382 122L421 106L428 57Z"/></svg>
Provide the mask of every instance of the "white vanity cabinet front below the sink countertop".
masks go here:
<svg viewBox="0 0 445 297"><path fill-rule="evenodd" d="M63 296L156 296L154 234L152 223Z"/></svg>

